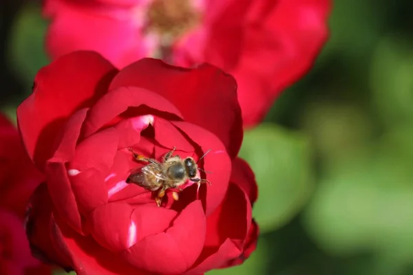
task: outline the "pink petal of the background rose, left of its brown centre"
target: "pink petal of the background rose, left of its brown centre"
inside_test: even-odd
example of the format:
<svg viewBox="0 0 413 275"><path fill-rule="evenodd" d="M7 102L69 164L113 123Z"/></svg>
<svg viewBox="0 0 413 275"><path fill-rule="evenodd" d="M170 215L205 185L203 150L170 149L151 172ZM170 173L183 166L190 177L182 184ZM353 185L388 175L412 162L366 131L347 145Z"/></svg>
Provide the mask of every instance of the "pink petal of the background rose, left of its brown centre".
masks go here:
<svg viewBox="0 0 413 275"><path fill-rule="evenodd" d="M46 47L53 58L76 50L94 50L121 68L149 54L150 48L142 43L144 38L136 26L136 16L129 9L112 6L110 10L102 10L97 3L92 10L90 4L71 5L73 3L47 1L45 8L53 20Z"/></svg>

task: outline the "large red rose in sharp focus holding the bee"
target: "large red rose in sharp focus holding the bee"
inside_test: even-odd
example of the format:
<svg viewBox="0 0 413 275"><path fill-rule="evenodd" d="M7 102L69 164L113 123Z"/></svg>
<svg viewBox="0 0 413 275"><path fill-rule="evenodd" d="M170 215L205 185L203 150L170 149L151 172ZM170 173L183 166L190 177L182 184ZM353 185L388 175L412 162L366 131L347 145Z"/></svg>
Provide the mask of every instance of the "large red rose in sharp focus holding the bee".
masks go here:
<svg viewBox="0 0 413 275"><path fill-rule="evenodd" d="M236 83L219 69L145 58L118 72L94 52L74 52L40 70L17 117L47 178L27 232L50 261L79 275L202 274L255 249L257 186L237 157ZM173 146L195 161L211 149L198 165L212 174L197 175L211 186L198 193L188 181L178 201L167 190L158 207L157 191L126 183L147 164L128 148L162 161Z"/></svg>

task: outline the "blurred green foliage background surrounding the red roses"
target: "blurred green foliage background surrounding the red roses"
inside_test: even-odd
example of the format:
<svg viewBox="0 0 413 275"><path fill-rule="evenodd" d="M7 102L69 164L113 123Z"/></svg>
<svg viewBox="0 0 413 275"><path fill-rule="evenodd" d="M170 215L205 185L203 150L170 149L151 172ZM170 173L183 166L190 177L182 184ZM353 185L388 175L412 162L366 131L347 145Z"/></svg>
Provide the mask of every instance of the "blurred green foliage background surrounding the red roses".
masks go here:
<svg viewBox="0 0 413 275"><path fill-rule="evenodd" d="M413 2L335 0L306 77L247 131L261 226L244 265L209 274L413 274ZM0 3L1 110L30 94L47 21Z"/></svg>

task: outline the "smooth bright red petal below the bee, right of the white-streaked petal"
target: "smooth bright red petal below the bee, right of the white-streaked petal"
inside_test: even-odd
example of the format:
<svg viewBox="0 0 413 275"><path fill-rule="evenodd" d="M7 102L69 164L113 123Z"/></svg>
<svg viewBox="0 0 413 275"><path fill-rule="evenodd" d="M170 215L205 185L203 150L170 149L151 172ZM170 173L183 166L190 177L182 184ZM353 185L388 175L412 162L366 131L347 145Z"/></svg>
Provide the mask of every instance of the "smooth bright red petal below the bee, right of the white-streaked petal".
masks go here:
<svg viewBox="0 0 413 275"><path fill-rule="evenodd" d="M204 245L205 217L200 201L193 201L166 232L147 236L123 256L132 265L160 274L182 274Z"/></svg>

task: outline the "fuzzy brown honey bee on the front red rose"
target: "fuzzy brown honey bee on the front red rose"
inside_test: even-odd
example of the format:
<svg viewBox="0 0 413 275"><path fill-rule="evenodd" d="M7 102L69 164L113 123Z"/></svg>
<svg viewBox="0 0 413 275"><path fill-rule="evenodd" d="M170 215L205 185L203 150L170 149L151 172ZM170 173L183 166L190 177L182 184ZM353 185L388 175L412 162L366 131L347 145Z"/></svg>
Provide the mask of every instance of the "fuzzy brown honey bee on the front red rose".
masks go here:
<svg viewBox="0 0 413 275"><path fill-rule="evenodd" d="M180 186L185 184L188 180L197 182L198 185L203 182L211 185L211 182L209 182L208 179L200 179L196 177L198 170L201 170L204 173L211 173L202 170L197 165L200 159L205 157L211 149L204 153L204 155L198 159L198 162L195 162L192 157L182 159L178 155L173 156L176 147L173 147L173 149L163 157L162 162L140 155L132 148L128 148L128 150L132 153L134 159L139 162L149 162L149 164L140 168L140 171L136 173L132 172L126 182L137 184L147 190L158 190L158 195L155 198L158 207L160 207L162 198L165 196L165 191L167 189L173 188L182 192ZM173 199L178 200L177 192L173 192Z"/></svg>

